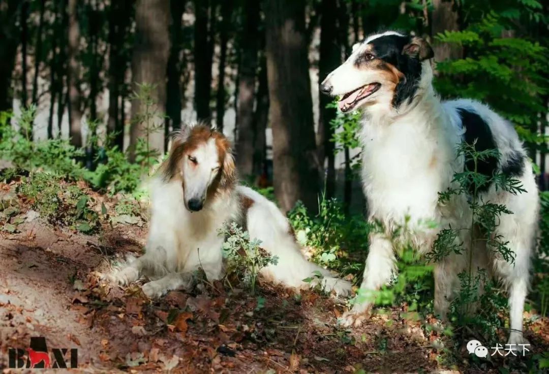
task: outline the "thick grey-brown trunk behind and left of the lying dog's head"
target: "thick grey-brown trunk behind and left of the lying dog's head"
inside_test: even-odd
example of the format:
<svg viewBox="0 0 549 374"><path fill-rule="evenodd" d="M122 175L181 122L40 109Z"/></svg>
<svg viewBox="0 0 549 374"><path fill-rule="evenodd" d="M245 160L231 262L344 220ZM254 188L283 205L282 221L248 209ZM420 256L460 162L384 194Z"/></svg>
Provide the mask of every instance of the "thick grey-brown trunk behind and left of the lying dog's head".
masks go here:
<svg viewBox="0 0 549 374"><path fill-rule="evenodd" d="M166 108L166 67L170 50L169 37L170 4L165 0L137 0L136 7L136 44L132 56L132 79L137 90L137 84L151 84L152 111L159 114L149 124L152 131L149 134L151 149L164 153L164 118L161 117ZM132 118L143 111L141 100L132 101ZM143 137L151 128L145 128L144 123L132 122L130 127L130 160L135 161L137 139ZM160 129L162 129L160 131Z"/></svg>

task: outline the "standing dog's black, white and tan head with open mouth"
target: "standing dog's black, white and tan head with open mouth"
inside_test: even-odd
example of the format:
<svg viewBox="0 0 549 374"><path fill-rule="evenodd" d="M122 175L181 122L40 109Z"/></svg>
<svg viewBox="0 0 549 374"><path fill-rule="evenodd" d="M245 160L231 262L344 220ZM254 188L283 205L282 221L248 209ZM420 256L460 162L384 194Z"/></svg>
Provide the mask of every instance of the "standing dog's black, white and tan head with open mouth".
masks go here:
<svg viewBox="0 0 549 374"><path fill-rule="evenodd" d="M422 38L388 31L369 36L352 47L351 56L329 73L321 92L340 96L339 108L348 112L359 107L388 110L410 102L430 67L422 61L433 57L433 49Z"/></svg>

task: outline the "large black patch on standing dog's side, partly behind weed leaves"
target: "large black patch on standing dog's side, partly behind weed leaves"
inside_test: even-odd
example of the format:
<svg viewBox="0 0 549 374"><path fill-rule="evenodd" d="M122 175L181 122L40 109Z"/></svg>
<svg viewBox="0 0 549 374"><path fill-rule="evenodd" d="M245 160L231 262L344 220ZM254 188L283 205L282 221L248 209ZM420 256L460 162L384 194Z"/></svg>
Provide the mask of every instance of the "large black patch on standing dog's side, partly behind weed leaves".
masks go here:
<svg viewBox="0 0 549 374"><path fill-rule="evenodd" d="M488 123L484 121L477 113L467 111L463 108L457 109L461 118L461 126L465 128L463 141L469 145L475 145L475 151L481 152L489 149L497 149L492 137L492 131ZM476 143L475 143L476 142ZM492 178L497 168L497 157L489 156L484 160L477 161L477 173L483 174L488 178ZM465 169L469 172L475 171L475 162L472 158L467 157L465 160ZM485 183L477 188L477 192L488 191L492 182ZM469 186L469 193L474 193L474 185Z"/></svg>

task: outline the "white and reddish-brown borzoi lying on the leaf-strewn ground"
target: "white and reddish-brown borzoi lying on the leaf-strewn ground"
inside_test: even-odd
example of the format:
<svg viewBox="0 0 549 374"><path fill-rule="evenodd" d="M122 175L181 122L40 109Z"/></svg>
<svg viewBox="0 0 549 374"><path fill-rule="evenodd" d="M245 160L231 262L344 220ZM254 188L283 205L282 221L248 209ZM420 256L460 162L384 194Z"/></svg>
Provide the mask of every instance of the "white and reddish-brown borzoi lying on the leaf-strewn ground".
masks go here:
<svg viewBox="0 0 549 374"><path fill-rule="evenodd" d="M150 298L169 290L191 290L193 273L202 268L208 280L223 276L222 244L217 230L237 222L250 239L278 257L260 271L288 287L318 285L346 296L349 282L307 261L295 242L288 220L277 206L256 191L238 185L229 141L209 126L186 127L173 138L169 158L153 178L149 235L145 254L108 276L125 285L141 276ZM311 283L304 282L320 271Z"/></svg>

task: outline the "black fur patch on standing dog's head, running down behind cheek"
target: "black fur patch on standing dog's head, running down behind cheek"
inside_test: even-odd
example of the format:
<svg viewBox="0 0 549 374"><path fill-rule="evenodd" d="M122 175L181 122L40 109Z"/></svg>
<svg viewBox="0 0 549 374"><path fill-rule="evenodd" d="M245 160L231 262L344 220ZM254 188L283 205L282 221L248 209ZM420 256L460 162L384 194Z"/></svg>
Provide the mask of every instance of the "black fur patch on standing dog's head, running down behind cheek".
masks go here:
<svg viewBox="0 0 549 374"><path fill-rule="evenodd" d="M373 47L373 52L378 58L395 66L404 74L404 78L400 80L395 88L394 107L398 107L405 100L410 103L421 80L421 62L402 53L406 44L410 43L411 40L412 38L409 35L385 35L368 43Z"/></svg>

